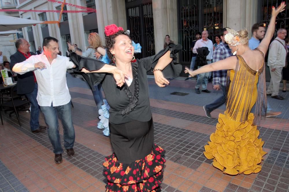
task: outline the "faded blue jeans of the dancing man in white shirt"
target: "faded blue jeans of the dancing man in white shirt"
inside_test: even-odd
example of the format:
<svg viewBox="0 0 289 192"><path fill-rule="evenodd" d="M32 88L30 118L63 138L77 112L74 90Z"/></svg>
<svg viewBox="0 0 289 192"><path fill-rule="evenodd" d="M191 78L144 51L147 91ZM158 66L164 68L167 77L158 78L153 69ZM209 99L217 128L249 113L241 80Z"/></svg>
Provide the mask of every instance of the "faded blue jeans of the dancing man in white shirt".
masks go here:
<svg viewBox="0 0 289 192"><path fill-rule="evenodd" d="M64 147L65 149L73 148L75 133L71 119L71 101L65 105L56 107L53 107L51 103L50 107L40 106L40 109L44 115L45 123L48 126L48 137L53 146L53 153L63 153L60 142L57 115L59 115L63 126Z"/></svg>

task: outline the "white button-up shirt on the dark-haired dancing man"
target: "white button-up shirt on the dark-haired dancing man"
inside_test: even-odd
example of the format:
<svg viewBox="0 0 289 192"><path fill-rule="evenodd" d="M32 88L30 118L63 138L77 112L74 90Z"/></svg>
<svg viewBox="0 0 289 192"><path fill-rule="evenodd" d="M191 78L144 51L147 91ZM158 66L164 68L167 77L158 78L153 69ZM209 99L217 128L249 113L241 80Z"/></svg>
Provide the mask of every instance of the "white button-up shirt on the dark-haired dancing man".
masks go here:
<svg viewBox="0 0 289 192"><path fill-rule="evenodd" d="M35 69L34 64L38 62L45 63L46 69ZM16 63L12 70L19 74L34 71L38 83L38 104L50 107L52 102L55 107L65 105L71 100L66 84L66 71L73 67L74 63L69 61L68 57L58 55L50 64L42 53L30 56L21 63Z"/></svg>

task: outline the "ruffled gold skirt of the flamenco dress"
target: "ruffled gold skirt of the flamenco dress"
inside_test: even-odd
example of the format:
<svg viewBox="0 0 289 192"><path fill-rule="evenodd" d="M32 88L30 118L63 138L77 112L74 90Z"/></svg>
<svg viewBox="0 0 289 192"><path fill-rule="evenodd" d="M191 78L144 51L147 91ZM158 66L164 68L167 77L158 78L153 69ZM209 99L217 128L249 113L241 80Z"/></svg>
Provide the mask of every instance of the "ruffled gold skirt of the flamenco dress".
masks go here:
<svg viewBox="0 0 289 192"><path fill-rule="evenodd" d="M220 114L216 132L210 136L209 145L205 146L204 155L213 159L213 166L225 174L251 174L261 171L264 141L258 139L259 130L253 126L253 113L241 123Z"/></svg>

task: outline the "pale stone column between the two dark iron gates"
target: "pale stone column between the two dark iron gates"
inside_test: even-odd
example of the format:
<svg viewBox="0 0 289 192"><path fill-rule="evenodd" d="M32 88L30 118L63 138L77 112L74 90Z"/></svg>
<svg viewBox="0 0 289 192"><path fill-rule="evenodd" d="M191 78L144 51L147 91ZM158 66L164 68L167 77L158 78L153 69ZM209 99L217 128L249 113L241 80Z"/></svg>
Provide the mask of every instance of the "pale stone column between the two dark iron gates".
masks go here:
<svg viewBox="0 0 289 192"><path fill-rule="evenodd" d="M153 0L152 3L155 52L157 53L164 48L166 35L178 43L177 1Z"/></svg>

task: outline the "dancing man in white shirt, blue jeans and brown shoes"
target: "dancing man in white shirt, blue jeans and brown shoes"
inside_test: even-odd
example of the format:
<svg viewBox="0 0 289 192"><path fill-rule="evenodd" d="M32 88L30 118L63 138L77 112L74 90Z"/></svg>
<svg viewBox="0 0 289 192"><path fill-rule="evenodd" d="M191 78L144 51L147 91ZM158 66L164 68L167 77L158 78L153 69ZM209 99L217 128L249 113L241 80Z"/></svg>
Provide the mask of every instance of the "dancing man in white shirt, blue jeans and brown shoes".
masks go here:
<svg viewBox="0 0 289 192"><path fill-rule="evenodd" d="M54 161L59 164L62 162L63 149L57 114L64 128L64 147L67 155L68 157L74 155L75 133L71 119L71 96L66 84L66 70L75 65L69 58L58 55L58 40L54 37L46 37L43 40L43 50L40 55L30 56L27 60L16 63L12 70L19 74L34 71L38 83L37 102L48 126L49 140L55 153Z"/></svg>

